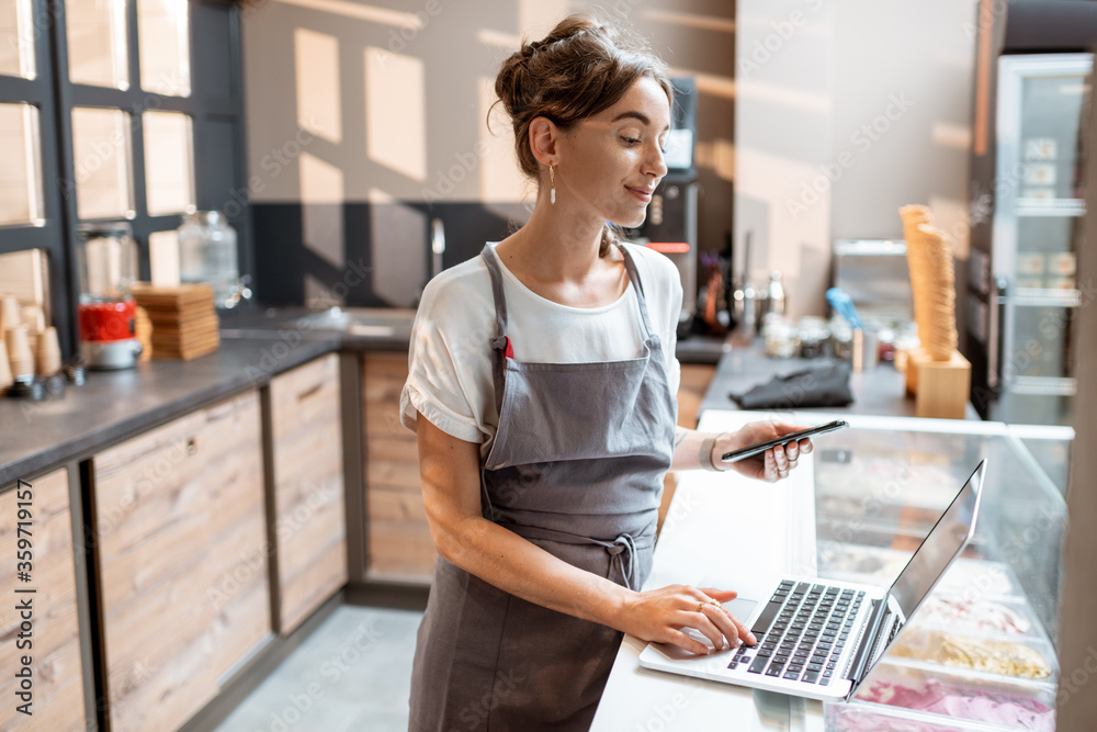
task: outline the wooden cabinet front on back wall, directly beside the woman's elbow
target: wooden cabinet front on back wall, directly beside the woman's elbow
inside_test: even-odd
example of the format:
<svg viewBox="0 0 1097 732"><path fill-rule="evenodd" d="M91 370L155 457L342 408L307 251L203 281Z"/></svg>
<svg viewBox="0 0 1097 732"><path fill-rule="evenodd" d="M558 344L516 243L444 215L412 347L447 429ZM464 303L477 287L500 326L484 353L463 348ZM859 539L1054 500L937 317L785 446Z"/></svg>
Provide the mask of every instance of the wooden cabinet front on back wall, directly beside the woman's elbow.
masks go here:
<svg viewBox="0 0 1097 732"><path fill-rule="evenodd" d="M400 425L408 357L376 352L366 353L362 361L366 576L429 583L438 553L422 505L415 432Z"/></svg>

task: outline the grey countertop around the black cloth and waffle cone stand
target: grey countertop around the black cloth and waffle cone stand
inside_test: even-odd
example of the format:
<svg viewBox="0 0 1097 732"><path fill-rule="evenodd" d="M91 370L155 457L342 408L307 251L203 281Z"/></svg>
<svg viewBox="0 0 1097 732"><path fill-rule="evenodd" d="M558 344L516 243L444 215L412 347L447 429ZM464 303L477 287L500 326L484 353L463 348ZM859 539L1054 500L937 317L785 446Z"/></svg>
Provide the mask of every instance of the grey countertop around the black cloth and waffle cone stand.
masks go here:
<svg viewBox="0 0 1097 732"><path fill-rule="evenodd" d="M766 356L760 342L734 348L723 354L716 373L709 384L700 410L738 409L730 393L743 394L757 384L765 383L778 374L787 374L823 363L819 359L771 359ZM874 369L850 375L852 404L845 407L818 407L818 412L914 417L915 402L906 395L904 375L890 362L881 362ZM798 410L800 410L798 408ZM811 408L804 408L811 412ZM979 419L975 408L968 404L968 419Z"/></svg>

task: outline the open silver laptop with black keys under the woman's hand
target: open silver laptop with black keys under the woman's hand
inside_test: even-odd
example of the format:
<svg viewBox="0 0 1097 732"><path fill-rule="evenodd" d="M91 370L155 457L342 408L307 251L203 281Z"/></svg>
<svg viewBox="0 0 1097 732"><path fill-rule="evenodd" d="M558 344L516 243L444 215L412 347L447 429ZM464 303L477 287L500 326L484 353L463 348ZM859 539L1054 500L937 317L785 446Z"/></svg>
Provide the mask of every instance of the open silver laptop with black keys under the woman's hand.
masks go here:
<svg viewBox="0 0 1097 732"><path fill-rule="evenodd" d="M750 628L754 646L699 656L649 643L640 665L823 701L849 699L974 536L985 470L984 460L890 588L774 577L771 592L757 599L725 604ZM700 632L687 632L712 646Z"/></svg>

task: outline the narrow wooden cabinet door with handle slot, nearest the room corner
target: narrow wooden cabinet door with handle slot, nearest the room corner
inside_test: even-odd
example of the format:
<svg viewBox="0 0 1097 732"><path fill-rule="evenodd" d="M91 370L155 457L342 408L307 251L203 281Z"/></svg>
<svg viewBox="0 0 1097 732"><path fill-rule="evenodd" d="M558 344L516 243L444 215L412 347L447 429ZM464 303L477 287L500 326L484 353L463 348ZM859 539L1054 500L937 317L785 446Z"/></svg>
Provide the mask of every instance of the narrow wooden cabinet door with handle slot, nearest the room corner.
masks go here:
<svg viewBox="0 0 1097 732"><path fill-rule="evenodd" d="M347 584L339 357L271 380L280 630L289 634Z"/></svg>

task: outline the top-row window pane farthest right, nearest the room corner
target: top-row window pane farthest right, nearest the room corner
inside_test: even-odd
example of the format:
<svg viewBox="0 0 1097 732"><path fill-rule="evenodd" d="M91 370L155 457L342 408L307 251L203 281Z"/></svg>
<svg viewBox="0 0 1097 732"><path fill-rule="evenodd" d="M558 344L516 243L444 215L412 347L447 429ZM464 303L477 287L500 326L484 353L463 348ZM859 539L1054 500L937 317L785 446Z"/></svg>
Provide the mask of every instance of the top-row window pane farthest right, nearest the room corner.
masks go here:
<svg viewBox="0 0 1097 732"><path fill-rule="evenodd" d="M186 0L138 0L140 87L172 97L191 95L190 22Z"/></svg>

